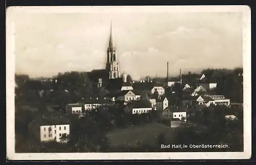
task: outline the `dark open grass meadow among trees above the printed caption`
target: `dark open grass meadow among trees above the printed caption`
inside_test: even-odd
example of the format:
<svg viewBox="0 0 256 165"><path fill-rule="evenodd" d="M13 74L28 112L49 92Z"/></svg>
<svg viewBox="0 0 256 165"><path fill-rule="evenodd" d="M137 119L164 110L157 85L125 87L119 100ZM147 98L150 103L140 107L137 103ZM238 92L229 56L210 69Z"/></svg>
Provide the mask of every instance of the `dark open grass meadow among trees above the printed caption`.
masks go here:
<svg viewBox="0 0 256 165"><path fill-rule="evenodd" d="M160 123L150 123L143 126L134 126L126 129L116 129L106 134L111 147L138 146L140 141L150 146L159 146L157 137L160 133L165 135L165 142L172 142L175 136L174 129Z"/></svg>

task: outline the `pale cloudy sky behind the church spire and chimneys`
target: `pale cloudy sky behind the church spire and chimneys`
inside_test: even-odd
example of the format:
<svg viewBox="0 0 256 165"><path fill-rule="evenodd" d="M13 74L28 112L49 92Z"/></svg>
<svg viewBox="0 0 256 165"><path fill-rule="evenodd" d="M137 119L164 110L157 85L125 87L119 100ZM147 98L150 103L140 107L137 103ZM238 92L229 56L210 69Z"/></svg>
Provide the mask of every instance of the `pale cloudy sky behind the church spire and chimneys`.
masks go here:
<svg viewBox="0 0 256 165"><path fill-rule="evenodd" d="M86 8L84 9L86 10ZM110 10L111 11L111 10ZM112 20L120 72L145 75L242 67L239 12L17 12L15 72L103 69Z"/></svg>

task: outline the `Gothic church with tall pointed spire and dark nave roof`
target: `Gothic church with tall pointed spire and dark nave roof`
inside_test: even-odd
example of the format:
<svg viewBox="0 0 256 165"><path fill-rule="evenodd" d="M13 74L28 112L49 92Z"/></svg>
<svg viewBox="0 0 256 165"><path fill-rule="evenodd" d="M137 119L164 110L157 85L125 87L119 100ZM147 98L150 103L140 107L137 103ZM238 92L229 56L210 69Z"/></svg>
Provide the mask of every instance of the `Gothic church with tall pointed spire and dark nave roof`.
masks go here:
<svg viewBox="0 0 256 165"><path fill-rule="evenodd" d="M126 79L126 74L120 75L118 65L118 53L113 42L112 23L110 26L109 45L106 50L106 65L105 69L95 69L88 73L89 78L94 81L97 88L105 88L108 90L121 89L123 78Z"/></svg>

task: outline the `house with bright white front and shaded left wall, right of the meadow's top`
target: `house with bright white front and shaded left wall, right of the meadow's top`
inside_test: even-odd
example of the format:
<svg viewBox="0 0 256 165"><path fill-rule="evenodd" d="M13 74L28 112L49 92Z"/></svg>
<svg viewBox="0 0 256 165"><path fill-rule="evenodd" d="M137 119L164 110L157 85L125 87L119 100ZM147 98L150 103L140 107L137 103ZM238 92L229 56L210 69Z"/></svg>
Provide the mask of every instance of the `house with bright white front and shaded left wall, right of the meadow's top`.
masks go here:
<svg viewBox="0 0 256 165"><path fill-rule="evenodd" d="M166 107L162 112L164 119L180 119L186 122L187 113L184 109L178 107Z"/></svg>

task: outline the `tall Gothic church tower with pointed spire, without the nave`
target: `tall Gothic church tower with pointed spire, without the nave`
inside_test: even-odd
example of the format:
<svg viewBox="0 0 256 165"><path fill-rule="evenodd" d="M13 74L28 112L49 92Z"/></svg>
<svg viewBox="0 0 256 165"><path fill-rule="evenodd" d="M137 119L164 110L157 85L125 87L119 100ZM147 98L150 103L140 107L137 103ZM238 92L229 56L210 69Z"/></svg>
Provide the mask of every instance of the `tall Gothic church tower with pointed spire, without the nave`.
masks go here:
<svg viewBox="0 0 256 165"><path fill-rule="evenodd" d="M120 78L119 67L117 63L116 47L113 44L112 22L110 25L110 41L107 50L106 70L108 70L109 72L109 79Z"/></svg>

